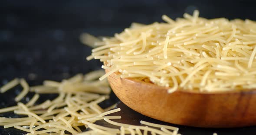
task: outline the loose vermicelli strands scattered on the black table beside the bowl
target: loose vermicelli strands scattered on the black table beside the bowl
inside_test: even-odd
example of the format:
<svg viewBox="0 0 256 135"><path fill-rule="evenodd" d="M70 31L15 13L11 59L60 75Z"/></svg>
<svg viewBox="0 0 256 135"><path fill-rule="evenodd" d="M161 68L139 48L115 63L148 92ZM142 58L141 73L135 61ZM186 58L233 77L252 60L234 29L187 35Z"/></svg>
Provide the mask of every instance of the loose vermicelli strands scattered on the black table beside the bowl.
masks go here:
<svg viewBox="0 0 256 135"><path fill-rule="evenodd" d="M3 125L4 128L14 127L28 132L27 135L68 135L66 132L69 132L72 135L78 133L80 133L80 135L88 135L90 133L102 133L106 135L142 135L141 131L145 129L149 131L148 133L163 133L160 135L166 135L166 132L161 131L161 129L151 129L147 128L147 126L138 126L137 128L134 128L136 125L111 121L110 119L121 119L121 116L108 116L121 109L115 109L116 104L105 109L102 109L98 105L98 103L105 101L109 97L109 91L102 93L102 91L97 90L101 87L109 87L108 82L99 82L97 80L103 74L105 73L102 70L92 71L85 75L77 74L70 79L62 80L62 82L45 80L43 85L35 87L29 87L25 80L17 79L23 86L23 91L24 89L26 89L25 92L29 89L35 89L33 91L36 94L34 94L31 100L27 103L18 102L17 106L0 109L0 113L13 111L18 115L27 116L24 118L0 117L0 125ZM88 89L88 92L81 92L75 87L82 84L87 85L85 88ZM10 83L7 83L6 85L10 85ZM15 87L16 83L11 86ZM8 86L8 89L11 88L12 87ZM36 101L40 98L38 93L41 93L41 90L45 90L45 93L53 93L52 90L55 90L54 93L58 93L59 96L54 100L46 100L43 103L37 104ZM21 92L20 94L21 96L17 96L19 99L26 96L26 93L24 94L24 92ZM110 121L114 123L113 125L124 125L124 127L115 129L93 123L101 119L104 119L107 122ZM85 126L86 128L89 128L89 130L82 132L82 129L80 129L79 126ZM163 125L166 130L171 129L166 126L167 125Z"/></svg>

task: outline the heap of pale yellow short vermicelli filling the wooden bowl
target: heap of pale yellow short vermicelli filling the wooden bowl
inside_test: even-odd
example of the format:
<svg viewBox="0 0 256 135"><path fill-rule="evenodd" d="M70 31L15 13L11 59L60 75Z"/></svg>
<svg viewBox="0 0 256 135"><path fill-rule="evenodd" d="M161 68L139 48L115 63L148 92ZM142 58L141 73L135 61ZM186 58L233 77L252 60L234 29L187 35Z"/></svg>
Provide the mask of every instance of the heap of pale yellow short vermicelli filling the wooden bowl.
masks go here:
<svg viewBox="0 0 256 135"><path fill-rule="evenodd" d="M121 77L141 78L175 90L216 92L256 88L256 22L251 20L205 19L194 11L190 16L166 23L141 25L114 37L104 38L92 49L90 59L100 59L109 72ZM243 82L238 79L245 77ZM217 85L210 82L218 81ZM248 84L248 82L251 82ZM223 84L229 84L223 87Z"/></svg>

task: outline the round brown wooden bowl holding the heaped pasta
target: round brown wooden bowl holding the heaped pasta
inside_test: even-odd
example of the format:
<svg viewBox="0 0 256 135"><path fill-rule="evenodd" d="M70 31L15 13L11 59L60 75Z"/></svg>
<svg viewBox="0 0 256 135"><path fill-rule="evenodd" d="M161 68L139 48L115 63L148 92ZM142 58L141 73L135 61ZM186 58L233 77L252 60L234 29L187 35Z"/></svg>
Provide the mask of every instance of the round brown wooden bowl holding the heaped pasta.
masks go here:
<svg viewBox="0 0 256 135"><path fill-rule="evenodd" d="M108 72L108 70L106 70ZM131 78L108 76L118 98L138 113L179 125L231 128L256 125L256 91L198 93L177 90Z"/></svg>

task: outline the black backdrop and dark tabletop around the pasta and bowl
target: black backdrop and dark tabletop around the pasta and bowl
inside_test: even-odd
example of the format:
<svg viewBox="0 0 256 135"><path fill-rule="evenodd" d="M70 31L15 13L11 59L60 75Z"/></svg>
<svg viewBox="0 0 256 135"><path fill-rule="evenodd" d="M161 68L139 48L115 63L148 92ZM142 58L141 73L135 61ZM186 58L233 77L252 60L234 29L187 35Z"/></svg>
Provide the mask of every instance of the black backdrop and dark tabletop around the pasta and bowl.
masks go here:
<svg viewBox="0 0 256 135"><path fill-rule="evenodd" d="M254 0L0 0L0 86L14 77L24 77L32 85L45 79L61 80L99 69L99 61L85 60L90 48L79 42L82 32L113 35L132 22L159 22L163 14L175 19L196 9L206 18L256 20L255 5ZM13 99L19 90L17 87L0 94L1 108L14 105ZM122 113L131 114L129 119L148 119L122 103L119 106L123 108ZM21 134L16 131L1 128L0 135ZM255 135L256 127L181 126L184 135L211 135L213 132Z"/></svg>

